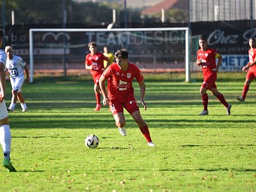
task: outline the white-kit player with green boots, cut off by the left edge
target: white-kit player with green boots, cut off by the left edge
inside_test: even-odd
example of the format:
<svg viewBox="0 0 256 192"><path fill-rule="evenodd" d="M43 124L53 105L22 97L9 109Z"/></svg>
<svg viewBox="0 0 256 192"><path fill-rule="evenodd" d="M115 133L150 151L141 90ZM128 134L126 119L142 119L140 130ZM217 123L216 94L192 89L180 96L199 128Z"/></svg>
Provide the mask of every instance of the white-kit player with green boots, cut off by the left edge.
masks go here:
<svg viewBox="0 0 256 192"><path fill-rule="evenodd" d="M3 30L0 29L0 47L3 45ZM4 161L3 166L8 168L10 172L16 172L10 162L12 135L10 131L8 112L4 102L5 97L5 64L6 52L0 49L0 142L3 148Z"/></svg>

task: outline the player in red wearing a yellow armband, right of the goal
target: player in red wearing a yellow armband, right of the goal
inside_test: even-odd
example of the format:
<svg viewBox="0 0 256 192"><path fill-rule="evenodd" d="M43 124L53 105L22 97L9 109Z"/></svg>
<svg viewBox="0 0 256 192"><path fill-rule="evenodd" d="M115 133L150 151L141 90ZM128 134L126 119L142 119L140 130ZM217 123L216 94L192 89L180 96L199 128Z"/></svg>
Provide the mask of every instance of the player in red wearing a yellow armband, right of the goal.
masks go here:
<svg viewBox="0 0 256 192"><path fill-rule="evenodd" d="M208 95L206 93L207 90L210 90L212 92L212 95L220 100L223 106L225 106L225 108L227 109L227 115L230 115L230 109L232 105L227 103L224 96L218 91L215 84L217 80L217 72L219 71L222 60L221 55L214 49L210 49L207 47L207 42L204 37L201 37L199 39L199 47L200 49L198 49L197 51L196 64L198 66L202 66L204 76L204 83L202 83L202 86L200 88L204 110L199 115L208 115ZM217 65L216 58L218 58Z"/></svg>

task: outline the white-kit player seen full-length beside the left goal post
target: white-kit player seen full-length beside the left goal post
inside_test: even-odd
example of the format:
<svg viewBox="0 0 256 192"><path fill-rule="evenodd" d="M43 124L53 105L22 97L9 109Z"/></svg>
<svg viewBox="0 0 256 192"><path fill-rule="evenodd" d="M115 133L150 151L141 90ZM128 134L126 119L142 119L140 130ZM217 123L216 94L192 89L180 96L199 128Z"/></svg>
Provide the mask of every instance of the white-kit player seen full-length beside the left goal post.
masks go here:
<svg viewBox="0 0 256 192"><path fill-rule="evenodd" d="M13 54L12 47L6 46L5 52L7 54L6 68L8 68L10 81L12 84L12 102L7 110L14 111L18 99L22 108L22 112L26 112L28 111L28 108L22 95L21 87L24 83L24 70L26 72L26 81L30 81L28 67L22 58Z"/></svg>

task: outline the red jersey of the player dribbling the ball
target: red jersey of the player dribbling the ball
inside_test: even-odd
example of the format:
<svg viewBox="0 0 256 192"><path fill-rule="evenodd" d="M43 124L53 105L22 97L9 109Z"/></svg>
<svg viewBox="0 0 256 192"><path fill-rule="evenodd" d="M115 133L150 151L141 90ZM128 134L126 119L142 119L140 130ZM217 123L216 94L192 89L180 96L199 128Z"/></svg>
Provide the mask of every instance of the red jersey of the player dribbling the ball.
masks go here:
<svg viewBox="0 0 256 192"><path fill-rule="evenodd" d="M110 65L102 74L108 79L108 98L122 99L134 95L134 88L132 87L132 79L134 77L138 82L143 81L143 75L140 69L132 63L128 63L127 70L121 70L117 63Z"/></svg>

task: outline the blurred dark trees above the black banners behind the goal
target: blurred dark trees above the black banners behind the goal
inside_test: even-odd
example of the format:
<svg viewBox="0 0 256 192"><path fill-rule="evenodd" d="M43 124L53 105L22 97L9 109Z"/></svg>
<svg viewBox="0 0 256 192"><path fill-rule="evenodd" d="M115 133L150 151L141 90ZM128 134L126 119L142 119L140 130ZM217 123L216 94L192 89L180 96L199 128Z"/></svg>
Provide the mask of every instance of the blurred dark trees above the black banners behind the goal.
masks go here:
<svg viewBox="0 0 256 192"><path fill-rule="evenodd" d="M159 22L160 13L157 15L141 15L140 10L124 10L120 3L77 3L72 0L0 0L5 1L5 24L12 24L11 13L15 13L15 24L62 24L63 2L67 10L67 24L109 24L113 20L113 9L116 9L117 24L127 21ZM2 15L2 9L0 10ZM182 10L166 11L166 21L180 21L186 19L186 13Z"/></svg>

